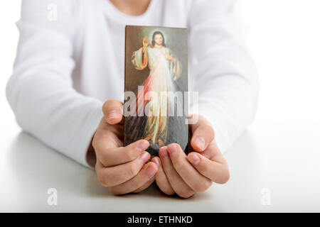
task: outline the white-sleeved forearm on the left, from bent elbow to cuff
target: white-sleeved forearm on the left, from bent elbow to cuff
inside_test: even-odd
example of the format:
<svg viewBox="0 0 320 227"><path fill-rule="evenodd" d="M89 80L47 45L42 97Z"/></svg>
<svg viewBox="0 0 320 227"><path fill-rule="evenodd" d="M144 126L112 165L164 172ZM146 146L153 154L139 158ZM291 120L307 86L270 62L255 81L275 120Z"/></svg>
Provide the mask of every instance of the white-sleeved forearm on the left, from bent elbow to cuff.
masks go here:
<svg viewBox="0 0 320 227"><path fill-rule="evenodd" d="M43 74L11 77L7 98L16 120L46 145L87 165L86 150L102 116L102 104L50 79L54 76L48 72Z"/></svg>

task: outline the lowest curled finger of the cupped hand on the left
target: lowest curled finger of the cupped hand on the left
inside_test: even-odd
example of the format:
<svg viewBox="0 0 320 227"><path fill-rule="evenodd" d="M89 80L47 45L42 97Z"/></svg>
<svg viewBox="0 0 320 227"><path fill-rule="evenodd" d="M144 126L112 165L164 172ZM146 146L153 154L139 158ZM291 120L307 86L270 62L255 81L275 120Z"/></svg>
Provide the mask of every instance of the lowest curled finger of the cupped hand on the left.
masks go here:
<svg viewBox="0 0 320 227"><path fill-rule="evenodd" d="M134 192L140 187L145 186L144 184L147 182L150 183L150 181L154 179L154 175L157 170L158 166L154 162L149 162L144 165L142 170L140 170L132 179L117 186L110 187L110 192L113 194L127 194L129 192Z"/></svg>

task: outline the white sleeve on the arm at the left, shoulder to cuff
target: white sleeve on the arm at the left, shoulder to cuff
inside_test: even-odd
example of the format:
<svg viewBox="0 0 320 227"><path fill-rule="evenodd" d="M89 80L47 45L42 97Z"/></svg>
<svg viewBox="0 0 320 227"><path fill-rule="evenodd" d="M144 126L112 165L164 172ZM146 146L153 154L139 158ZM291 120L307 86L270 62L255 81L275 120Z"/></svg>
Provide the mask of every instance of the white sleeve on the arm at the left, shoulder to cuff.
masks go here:
<svg viewBox="0 0 320 227"><path fill-rule="evenodd" d="M22 1L20 38L6 96L27 133L88 166L102 103L73 89L76 1Z"/></svg>

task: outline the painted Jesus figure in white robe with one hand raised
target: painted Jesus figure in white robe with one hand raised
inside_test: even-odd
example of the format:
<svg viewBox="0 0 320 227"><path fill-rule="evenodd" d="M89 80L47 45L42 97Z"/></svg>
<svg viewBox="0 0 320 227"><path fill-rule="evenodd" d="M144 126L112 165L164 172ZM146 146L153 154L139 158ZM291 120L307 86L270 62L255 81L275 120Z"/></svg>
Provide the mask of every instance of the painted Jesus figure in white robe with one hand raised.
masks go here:
<svg viewBox="0 0 320 227"><path fill-rule="evenodd" d="M138 108L148 105L150 111L157 110L156 116L147 117L143 137L149 141L151 148L159 150L166 145L169 124L167 116L175 106L174 98L161 94L176 92L176 79L181 75L181 63L174 57L174 53L166 48L161 31L153 33L151 45L146 37L142 43L142 48L132 54L132 64L137 70L144 70L148 66L150 72L142 84L144 91L138 94L137 102L140 106ZM147 98L150 92L156 94L157 98Z"/></svg>

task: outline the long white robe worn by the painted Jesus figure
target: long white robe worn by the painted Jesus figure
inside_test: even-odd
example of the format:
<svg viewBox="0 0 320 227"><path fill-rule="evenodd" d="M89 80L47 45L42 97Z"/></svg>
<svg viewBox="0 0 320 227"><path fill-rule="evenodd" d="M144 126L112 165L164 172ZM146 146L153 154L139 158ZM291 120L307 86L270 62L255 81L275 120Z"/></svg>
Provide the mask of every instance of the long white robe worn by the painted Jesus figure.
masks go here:
<svg viewBox="0 0 320 227"><path fill-rule="evenodd" d="M176 57L174 62L166 59L166 55L174 57L169 48L151 48L146 50L140 48L134 51L132 63L137 70L143 70L146 65L149 66L149 77L144 81L144 97L138 95L138 100L149 100L146 104L148 116L143 138L148 138L153 143L159 143L159 140L166 143L168 137L168 123L170 111L174 110L176 105L174 96L176 94L175 80L181 75L181 64ZM187 78L185 78L187 79ZM183 100L178 100L183 101ZM140 103L142 104L142 103ZM177 104L181 105L181 104ZM138 106L138 108L145 106ZM149 112L151 111L151 113ZM136 138L140 139L140 138Z"/></svg>

